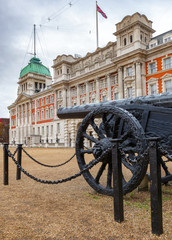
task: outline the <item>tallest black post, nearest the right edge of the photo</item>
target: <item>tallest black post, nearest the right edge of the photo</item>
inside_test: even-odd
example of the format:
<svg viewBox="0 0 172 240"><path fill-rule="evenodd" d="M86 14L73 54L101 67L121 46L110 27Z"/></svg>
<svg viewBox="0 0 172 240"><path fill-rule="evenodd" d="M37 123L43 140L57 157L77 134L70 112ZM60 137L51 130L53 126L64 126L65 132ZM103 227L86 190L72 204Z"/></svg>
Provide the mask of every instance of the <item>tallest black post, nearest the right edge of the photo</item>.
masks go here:
<svg viewBox="0 0 172 240"><path fill-rule="evenodd" d="M159 138L149 139L149 161L150 161L150 191L151 191L151 225L152 233L160 235L163 233L162 223L162 191L161 191L161 166L157 143Z"/></svg>

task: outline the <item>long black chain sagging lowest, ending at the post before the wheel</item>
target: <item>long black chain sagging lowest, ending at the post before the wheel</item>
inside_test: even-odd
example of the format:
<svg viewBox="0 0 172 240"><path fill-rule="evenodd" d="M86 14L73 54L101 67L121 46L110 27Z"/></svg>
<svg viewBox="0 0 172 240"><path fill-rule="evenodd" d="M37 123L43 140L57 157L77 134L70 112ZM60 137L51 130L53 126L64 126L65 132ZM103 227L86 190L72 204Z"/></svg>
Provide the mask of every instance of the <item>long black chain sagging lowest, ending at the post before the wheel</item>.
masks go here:
<svg viewBox="0 0 172 240"><path fill-rule="evenodd" d="M95 166L97 163L99 163L101 161L101 159L107 155L109 153L109 151L111 151L112 149L111 148L108 148L106 149L103 154L98 157L97 159L94 159L92 160L89 164L85 165L85 167L78 173L74 174L73 176L70 176L68 178L64 178L64 179L60 179L60 180L57 180L57 181L51 181L51 180L42 180L42 179L39 179L39 178L36 178L35 176L31 175L30 173L28 173L27 171L25 171L21 165L18 164L18 162L16 161L16 159L14 158L13 154L10 152L9 149L7 149L8 151L8 155L9 157L12 158L12 160L14 161L14 163L18 166L18 168L21 169L21 171L28 177L30 177L31 179L35 180L36 182L40 182L40 183L45 183L45 184L59 184L59 183L63 183L63 182L68 182L72 179L75 179L79 176L81 176L84 172L88 171L89 169L91 169L93 166Z"/></svg>

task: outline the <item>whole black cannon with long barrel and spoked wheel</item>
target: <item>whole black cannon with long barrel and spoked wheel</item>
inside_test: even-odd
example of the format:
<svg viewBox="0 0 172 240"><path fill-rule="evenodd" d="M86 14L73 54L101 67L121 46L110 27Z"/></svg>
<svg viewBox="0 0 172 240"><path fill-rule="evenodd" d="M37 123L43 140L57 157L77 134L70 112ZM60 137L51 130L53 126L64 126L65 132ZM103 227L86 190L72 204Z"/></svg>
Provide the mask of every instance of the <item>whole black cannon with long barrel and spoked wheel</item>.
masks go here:
<svg viewBox="0 0 172 240"><path fill-rule="evenodd" d="M128 193L146 174L148 139L158 137L164 170L162 182L172 180L167 167L172 161L172 93L60 108L57 115L63 119L84 118L76 137L76 156L81 170L112 146L112 139L119 139L123 192ZM96 171L83 174L92 188L106 195L113 194L111 159L109 152L96 166Z"/></svg>

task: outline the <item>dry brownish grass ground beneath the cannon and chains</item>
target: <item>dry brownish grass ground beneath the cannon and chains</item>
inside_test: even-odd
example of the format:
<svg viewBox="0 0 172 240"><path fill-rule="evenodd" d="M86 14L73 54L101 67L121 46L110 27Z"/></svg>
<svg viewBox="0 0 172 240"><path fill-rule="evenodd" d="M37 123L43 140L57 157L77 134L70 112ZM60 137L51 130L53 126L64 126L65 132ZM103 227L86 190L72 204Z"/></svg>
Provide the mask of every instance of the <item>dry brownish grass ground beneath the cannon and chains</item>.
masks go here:
<svg viewBox="0 0 172 240"><path fill-rule="evenodd" d="M14 149L11 149L13 152ZM74 149L27 149L41 162L58 164ZM76 158L60 168L40 166L23 154L22 165L42 179L57 180L79 171ZM97 194L81 176L59 185L37 183L9 160L9 185L3 185L3 151L0 148L0 240L129 240L172 239L172 183L163 186L163 228L151 234L150 193L124 196L125 221L115 222L113 198Z"/></svg>

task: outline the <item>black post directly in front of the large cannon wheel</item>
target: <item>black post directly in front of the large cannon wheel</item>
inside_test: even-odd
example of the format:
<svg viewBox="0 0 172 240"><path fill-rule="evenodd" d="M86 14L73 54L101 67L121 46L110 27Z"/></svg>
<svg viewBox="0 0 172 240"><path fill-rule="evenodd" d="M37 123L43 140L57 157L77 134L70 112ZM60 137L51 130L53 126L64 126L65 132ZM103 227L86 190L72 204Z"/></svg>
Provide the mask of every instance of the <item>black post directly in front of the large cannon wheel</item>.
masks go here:
<svg viewBox="0 0 172 240"><path fill-rule="evenodd" d="M124 221L122 166L121 156L118 150L119 139L112 139L112 171L114 189L114 219L116 222Z"/></svg>

